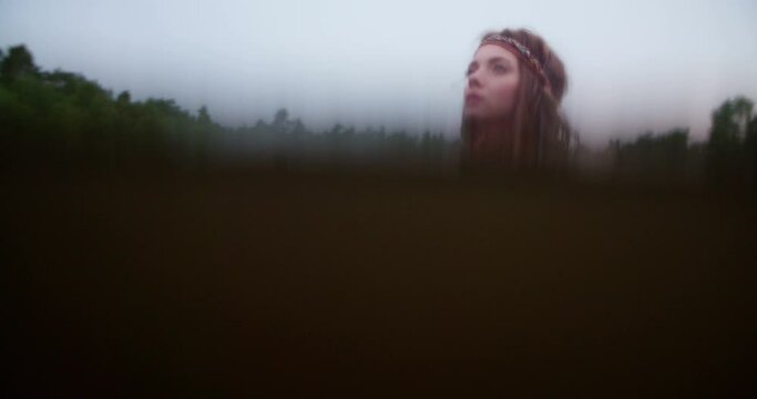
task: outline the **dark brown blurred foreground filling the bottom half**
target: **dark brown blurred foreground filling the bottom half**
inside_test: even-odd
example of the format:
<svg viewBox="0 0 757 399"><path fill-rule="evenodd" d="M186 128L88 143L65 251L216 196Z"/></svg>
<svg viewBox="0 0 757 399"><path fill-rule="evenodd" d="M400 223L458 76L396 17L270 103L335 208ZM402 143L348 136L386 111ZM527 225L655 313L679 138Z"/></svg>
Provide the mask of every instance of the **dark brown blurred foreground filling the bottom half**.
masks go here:
<svg viewBox="0 0 757 399"><path fill-rule="evenodd" d="M2 185L13 396L756 388L754 196L253 172Z"/></svg>

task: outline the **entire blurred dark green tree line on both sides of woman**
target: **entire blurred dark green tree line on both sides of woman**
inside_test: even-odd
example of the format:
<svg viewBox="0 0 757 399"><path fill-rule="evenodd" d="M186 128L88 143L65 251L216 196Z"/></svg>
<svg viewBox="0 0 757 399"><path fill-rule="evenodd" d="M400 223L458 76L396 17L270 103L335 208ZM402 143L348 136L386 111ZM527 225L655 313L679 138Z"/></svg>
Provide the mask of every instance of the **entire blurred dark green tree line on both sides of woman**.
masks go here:
<svg viewBox="0 0 757 399"><path fill-rule="evenodd" d="M686 127L612 140L606 173L625 182L708 183L757 187L757 116L744 96L712 115L709 137L690 143ZM456 171L459 140L429 131L357 130L339 123L313 131L287 110L270 122L222 126L206 106L196 114L173 100L134 101L86 78L34 64L24 45L0 51L0 166L11 170L315 165ZM583 154L586 147L576 154ZM600 156L590 154L590 157ZM610 166L610 167L607 167Z"/></svg>

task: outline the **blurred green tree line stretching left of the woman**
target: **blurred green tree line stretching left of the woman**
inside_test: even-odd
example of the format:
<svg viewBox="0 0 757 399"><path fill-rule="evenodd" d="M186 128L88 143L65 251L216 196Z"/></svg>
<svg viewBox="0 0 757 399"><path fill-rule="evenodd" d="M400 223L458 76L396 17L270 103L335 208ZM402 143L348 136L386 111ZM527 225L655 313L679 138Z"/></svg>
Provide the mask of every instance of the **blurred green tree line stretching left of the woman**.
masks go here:
<svg viewBox="0 0 757 399"><path fill-rule="evenodd" d="M314 132L286 110L273 121L226 127L206 106L196 115L173 100L133 101L86 78L41 71L23 45L0 53L0 147L3 166L203 167L252 163L288 168L315 163L440 168L458 143L442 134L358 131L336 124Z"/></svg>

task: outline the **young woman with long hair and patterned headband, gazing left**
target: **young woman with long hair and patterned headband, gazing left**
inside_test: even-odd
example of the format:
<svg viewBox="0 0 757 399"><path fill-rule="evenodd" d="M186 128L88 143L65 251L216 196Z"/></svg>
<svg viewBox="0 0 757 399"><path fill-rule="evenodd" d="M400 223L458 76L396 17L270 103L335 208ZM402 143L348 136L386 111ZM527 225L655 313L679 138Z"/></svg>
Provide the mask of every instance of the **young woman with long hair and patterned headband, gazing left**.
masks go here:
<svg viewBox="0 0 757 399"><path fill-rule="evenodd" d="M542 38L523 29L489 32L467 74L464 171L566 165L571 135L560 102L567 79L563 62Z"/></svg>

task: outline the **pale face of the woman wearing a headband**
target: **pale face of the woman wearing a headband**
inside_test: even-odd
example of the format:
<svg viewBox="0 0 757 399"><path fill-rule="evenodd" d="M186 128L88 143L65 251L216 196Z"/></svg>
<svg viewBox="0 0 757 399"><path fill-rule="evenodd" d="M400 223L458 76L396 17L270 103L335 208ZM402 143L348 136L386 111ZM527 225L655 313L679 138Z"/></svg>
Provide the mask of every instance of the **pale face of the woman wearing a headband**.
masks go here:
<svg viewBox="0 0 757 399"><path fill-rule="evenodd" d="M510 116L520 82L518 63L515 54L499 45L480 47L468 66L463 114L479 120Z"/></svg>

